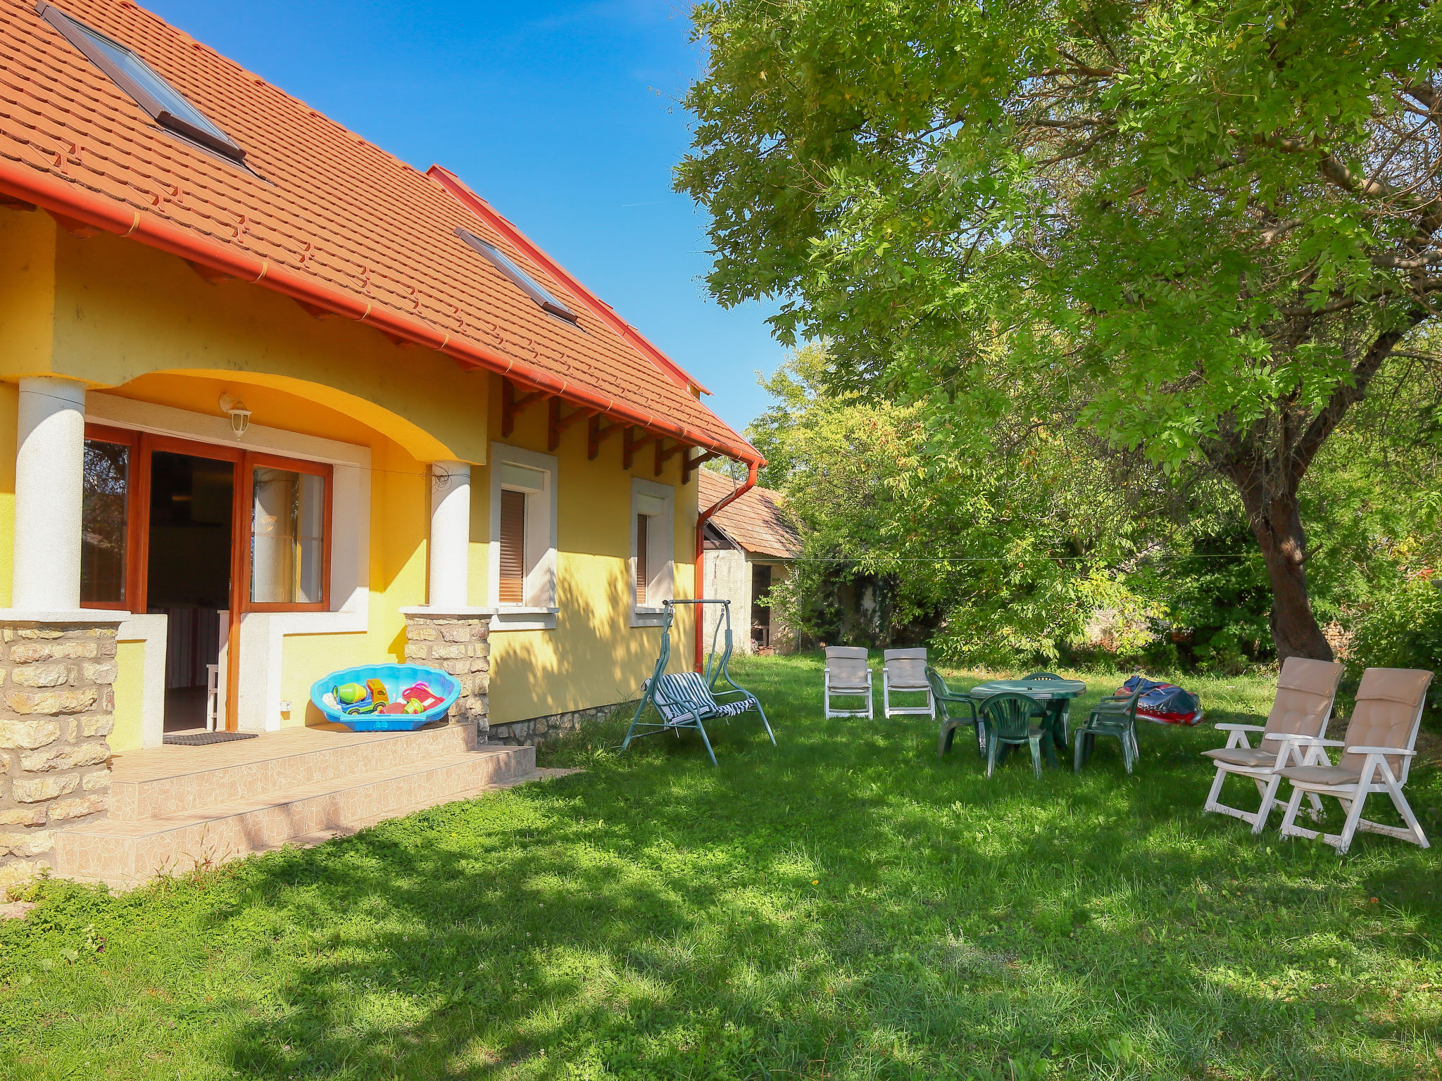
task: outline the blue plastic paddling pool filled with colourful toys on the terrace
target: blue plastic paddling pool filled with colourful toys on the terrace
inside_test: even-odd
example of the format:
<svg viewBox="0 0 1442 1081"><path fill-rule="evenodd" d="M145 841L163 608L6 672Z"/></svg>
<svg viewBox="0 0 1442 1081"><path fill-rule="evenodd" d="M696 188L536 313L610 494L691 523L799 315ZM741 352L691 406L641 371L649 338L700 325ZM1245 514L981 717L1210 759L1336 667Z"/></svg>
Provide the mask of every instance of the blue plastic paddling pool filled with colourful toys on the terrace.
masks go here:
<svg viewBox="0 0 1442 1081"><path fill-rule="evenodd" d="M363 664L310 686L316 709L352 732L408 732L440 721L459 696L454 676L418 664Z"/></svg>

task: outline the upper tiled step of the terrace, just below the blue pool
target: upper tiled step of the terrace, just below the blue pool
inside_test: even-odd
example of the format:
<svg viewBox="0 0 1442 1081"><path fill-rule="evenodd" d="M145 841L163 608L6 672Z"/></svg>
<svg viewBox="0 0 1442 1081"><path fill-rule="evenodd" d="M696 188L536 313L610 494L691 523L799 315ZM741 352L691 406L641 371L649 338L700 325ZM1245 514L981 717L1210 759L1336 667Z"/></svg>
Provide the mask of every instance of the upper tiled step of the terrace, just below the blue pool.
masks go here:
<svg viewBox="0 0 1442 1081"><path fill-rule="evenodd" d="M418 732L337 732L293 728L215 747L166 747L120 755L110 786L110 817L153 819L288 791L476 747L469 724Z"/></svg>

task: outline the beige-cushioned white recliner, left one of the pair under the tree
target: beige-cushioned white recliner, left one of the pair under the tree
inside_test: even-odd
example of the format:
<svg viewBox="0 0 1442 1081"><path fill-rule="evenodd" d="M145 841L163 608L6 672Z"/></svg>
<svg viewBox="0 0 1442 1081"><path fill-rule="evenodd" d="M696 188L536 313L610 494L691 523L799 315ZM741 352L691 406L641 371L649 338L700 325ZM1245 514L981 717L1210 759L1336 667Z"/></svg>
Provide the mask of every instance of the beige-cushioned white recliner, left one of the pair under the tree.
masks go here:
<svg viewBox="0 0 1442 1081"><path fill-rule="evenodd" d="M1319 738L1327 735L1327 721L1332 715L1332 702L1337 698L1337 682L1341 679L1343 666L1328 660L1308 660L1305 657L1288 657L1282 664L1282 675L1276 680L1276 699L1272 702L1272 712L1268 713L1266 725L1217 725L1223 732L1230 732L1226 747L1203 751L1217 765L1217 777L1207 793L1204 810L1218 814L1231 814L1252 824L1253 833L1260 833L1266 826L1272 804L1276 801L1276 790L1282 784L1278 773L1285 765L1301 765L1302 752L1291 737ZM1257 745L1247 742L1247 732L1260 732ZM1256 811L1244 811L1240 807L1229 807L1221 801L1221 786L1229 774L1250 777L1256 781L1262 806ZM1321 800L1312 797L1312 806L1322 809Z"/></svg>

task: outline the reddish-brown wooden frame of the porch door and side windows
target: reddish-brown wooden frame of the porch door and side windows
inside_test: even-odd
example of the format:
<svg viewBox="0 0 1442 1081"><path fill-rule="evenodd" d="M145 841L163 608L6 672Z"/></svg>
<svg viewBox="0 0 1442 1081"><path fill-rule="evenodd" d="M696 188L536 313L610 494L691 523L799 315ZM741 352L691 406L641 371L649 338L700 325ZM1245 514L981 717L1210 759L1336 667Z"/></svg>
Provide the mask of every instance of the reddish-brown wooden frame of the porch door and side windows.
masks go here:
<svg viewBox="0 0 1442 1081"><path fill-rule="evenodd" d="M87 424L87 440L117 442L131 448L125 494L125 582L124 598L120 602L97 601L87 608L144 613L149 601L150 568L150 461L156 451L183 454L192 458L229 461L235 467L231 484L231 618L226 628L225 664L225 729L238 728L239 682L241 682L241 617L248 611L330 611L330 548L332 509L335 500L335 467L330 463L288 458L268 451L252 451L245 447L229 447L218 442L185 440L174 435L157 435L134 428L112 428L104 424ZM326 481L324 509L322 510L322 598L309 604L254 602L249 600L251 540L255 467L291 470L320 476Z"/></svg>

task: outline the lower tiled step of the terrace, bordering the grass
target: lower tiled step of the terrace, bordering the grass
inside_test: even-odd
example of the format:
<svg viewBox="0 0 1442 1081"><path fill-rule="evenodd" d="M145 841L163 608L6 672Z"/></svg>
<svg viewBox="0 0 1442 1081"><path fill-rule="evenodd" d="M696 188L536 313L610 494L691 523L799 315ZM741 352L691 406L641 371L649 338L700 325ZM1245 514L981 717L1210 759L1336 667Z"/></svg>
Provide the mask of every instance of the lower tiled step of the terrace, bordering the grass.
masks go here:
<svg viewBox="0 0 1442 1081"><path fill-rule="evenodd" d="M200 809L131 820L111 817L56 835L55 871L81 881L138 885L287 840L309 843L350 833L362 824L535 775L534 747L482 747Z"/></svg>

